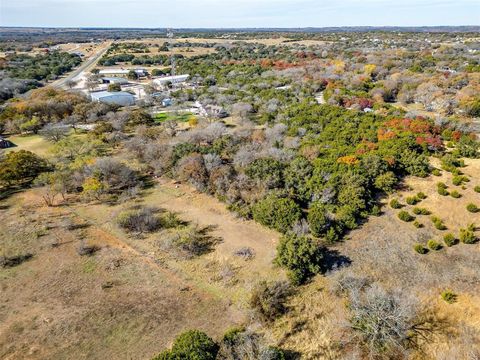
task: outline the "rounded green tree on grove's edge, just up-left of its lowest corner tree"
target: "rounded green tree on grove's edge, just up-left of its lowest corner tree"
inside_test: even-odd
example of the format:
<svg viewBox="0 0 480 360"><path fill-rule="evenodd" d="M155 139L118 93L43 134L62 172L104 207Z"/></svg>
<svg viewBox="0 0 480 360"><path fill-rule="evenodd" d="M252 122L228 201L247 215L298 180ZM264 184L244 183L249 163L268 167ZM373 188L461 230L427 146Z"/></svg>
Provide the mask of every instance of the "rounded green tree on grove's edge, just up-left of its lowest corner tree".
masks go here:
<svg viewBox="0 0 480 360"><path fill-rule="evenodd" d="M300 207L289 198L269 195L252 207L253 219L262 225L286 233L300 220Z"/></svg>

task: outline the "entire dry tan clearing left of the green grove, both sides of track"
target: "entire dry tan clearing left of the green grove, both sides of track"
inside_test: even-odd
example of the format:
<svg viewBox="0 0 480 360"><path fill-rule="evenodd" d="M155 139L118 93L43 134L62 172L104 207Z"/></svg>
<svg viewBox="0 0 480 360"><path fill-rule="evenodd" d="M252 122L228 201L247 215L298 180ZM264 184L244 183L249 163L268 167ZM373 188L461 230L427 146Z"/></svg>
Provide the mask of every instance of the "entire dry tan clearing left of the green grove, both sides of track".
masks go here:
<svg viewBox="0 0 480 360"><path fill-rule="evenodd" d="M1 271L1 358L148 358L185 329L219 336L241 323L252 279L283 276L271 264L277 234L235 219L217 200L165 183L143 201L213 225L222 242L208 255L175 261L155 246L159 234L137 239L119 230L120 207L47 208L38 190L2 203L2 253L34 257ZM101 250L78 255L81 239ZM235 259L245 246L256 257ZM233 278L219 277L225 267Z"/></svg>

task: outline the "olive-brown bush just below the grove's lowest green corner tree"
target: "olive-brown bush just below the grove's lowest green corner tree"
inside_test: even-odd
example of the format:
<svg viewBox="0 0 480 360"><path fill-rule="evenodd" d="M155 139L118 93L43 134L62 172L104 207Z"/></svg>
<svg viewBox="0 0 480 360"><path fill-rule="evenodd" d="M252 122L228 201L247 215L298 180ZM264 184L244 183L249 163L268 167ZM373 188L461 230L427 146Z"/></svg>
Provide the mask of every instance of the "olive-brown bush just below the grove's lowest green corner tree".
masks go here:
<svg viewBox="0 0 480 360"><path fill-rule="evenodd" d="M262 322L271 323L285 313L285 302L290 294L291 288L284 281L262 281L252 291L250 307Z"/></svg>

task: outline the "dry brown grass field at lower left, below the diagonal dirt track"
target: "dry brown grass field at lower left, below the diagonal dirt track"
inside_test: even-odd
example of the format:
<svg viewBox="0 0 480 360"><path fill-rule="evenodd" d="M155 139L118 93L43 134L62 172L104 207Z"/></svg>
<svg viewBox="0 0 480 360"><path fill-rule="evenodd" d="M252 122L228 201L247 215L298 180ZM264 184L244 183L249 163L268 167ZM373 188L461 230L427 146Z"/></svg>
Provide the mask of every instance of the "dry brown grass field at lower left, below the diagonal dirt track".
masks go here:
<svg viewBox="0 0 480 360"><path fill-rule="evenodd" d="M217 336L242 320L226 299L74 210L46 208L34 190L2 202L2 255L33 254L0 274L2 359L144 359L185 329ZM81 241L101 250L80 256Z"/></svg>

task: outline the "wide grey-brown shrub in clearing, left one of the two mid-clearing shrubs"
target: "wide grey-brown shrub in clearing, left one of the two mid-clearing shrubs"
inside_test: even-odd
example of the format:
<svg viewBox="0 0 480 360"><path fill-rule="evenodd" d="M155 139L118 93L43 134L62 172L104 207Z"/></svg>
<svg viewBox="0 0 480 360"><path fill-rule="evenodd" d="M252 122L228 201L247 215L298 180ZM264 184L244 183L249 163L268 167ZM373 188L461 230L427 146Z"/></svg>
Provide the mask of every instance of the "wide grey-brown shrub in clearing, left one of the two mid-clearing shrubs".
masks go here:
<svg viewBox="0 0 480 360"><path fill-rule="evenodd" d="M157 212L157 209L149 207L123 211L118 215L117 223L127 232L138 234L154 232L162 227Z"/></svg>

